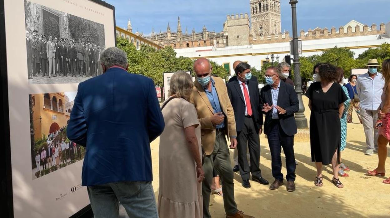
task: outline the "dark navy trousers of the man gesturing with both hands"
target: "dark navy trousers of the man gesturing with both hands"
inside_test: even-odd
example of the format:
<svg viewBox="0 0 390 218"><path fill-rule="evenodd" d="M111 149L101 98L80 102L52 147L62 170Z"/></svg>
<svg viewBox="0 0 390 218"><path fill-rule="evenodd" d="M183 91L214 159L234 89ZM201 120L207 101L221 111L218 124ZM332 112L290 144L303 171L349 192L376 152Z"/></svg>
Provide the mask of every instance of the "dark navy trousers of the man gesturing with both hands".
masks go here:
<svg viewBox="0 0 390 218"><path fill-rule="evenodd" d="M286 157L287 181L295 181L295 155L294 136L288 136L280 127L279 120L274 120L270 124L271 128L267 135L269 150L271 151L272 176L283 181L282 158L280 152L282 148Z"/></svg>

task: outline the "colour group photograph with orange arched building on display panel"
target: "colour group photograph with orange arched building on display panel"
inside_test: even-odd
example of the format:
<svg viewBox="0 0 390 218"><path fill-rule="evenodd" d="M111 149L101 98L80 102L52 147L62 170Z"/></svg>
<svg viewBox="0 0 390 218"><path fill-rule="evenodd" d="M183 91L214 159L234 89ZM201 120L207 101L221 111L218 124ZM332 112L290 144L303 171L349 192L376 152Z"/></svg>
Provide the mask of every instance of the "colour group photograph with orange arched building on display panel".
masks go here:
<svg viewBox="0 0 390 218"><path fill-rule="evenodd" d="M77 92L28 95L32 179L83 160L85 148L66 136Z"/></svg>

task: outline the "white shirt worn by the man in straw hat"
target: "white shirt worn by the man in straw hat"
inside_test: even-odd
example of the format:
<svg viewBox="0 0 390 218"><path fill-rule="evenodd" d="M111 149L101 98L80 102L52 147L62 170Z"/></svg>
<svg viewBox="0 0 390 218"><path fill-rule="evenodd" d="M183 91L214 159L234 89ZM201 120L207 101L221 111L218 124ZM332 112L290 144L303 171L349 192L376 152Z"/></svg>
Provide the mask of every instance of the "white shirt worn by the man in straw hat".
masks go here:
<svg viewBox="0 0 390 218"><path fill-rule="evenodd" d="M376 73L374 79L369 76L369 73L365 73L358 77L356 82L356 91L360 98L360 107L365 110L378 110L381 105L381 95L383 87L385 86L385 80L382 74Z"/></svg>

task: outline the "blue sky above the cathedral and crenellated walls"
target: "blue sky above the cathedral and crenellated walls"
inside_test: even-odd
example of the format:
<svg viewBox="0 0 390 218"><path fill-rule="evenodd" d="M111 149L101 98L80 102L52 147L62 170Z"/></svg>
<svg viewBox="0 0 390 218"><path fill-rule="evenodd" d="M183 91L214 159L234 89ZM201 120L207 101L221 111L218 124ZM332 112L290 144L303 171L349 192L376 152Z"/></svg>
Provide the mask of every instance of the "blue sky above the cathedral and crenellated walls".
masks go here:
<svg viewBox="0 0 390 218"><path fill-rule="evenodd" d="M219 32L227 14L250 14L249 0L106 0L115 6L116 25L127 28L130 18L133 32L150 34L166 31L169 22L171 31L176 32L177 16L180 16L182 31L187 26L201 32ZM299 0L297 4L298 34L301 29L331 27L339 28L352 19L371 26L388 23L390 0ZM292 34L291 5L281 0L282 31Z"/></svg>

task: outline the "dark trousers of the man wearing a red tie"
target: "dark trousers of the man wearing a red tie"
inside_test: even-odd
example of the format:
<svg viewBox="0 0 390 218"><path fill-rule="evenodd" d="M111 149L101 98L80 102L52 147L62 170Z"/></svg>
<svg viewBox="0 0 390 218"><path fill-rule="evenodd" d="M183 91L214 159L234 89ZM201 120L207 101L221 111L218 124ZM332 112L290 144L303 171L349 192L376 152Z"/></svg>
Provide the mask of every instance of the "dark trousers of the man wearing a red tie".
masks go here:
<svg viewBox="0 0 390 218"><path fill-rule="evenodd" d="M252 117L244 118L243 129L237 134L238 167L242 179L249 179L252 175L261 177L260 170L260 136L255 129ZM246 159L246 143L248 142L250 168Z"/></svg>

